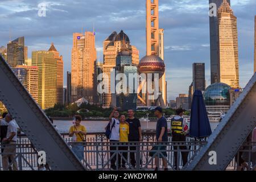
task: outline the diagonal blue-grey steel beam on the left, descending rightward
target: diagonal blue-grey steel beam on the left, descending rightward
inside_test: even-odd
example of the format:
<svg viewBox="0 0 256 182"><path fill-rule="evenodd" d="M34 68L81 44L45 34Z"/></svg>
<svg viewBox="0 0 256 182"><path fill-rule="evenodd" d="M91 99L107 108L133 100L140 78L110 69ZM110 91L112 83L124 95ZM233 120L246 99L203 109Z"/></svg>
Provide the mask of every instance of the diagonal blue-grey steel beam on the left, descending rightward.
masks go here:
<svg viewBox="0 0 256 182"><path fill-rule="evenodd" d="M1 55L0 83L0 101L36 149L46 152L49 166L53 170L85 170Z"/></svg>

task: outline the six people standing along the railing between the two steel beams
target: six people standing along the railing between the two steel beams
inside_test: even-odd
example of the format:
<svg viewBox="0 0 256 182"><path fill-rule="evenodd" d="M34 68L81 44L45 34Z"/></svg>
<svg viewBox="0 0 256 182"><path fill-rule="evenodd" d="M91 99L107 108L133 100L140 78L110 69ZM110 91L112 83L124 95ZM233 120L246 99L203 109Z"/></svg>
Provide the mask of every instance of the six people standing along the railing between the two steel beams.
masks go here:
<svg viewBox="0 0 256 182"><path fill-rule="evenodd" d="M188 131L187 123L182 118L183 116L183 109L177 109L176 110L176 117L172 118L171 121L171 128L172 128L172 140L174 141L185 141ZM162 143L160 145L156 145L152 148L152 151L150 152L151 156L154 156L155 158L155 164L159 164L159 160L162 159L164 170L168 170L168 164L167 164L167 144L164 144L164 142L168 142L168 128L167 128L167 120L163 116L163 110L161 107L156 107L154 110L155 117L158 119L156 123L156 141L159 143ZM142 142L142 129L141 129L141 122L138 118L134 117L135 111L130 109L127 111L127 118L126 115L119 115L119 111L117 107L114 108L112 113L109 116L109 123L108 126L105 127L106 131L109 131L109 135L107 138L110 141L110 169L116 170L116 169L126 169L126 162L127 162L127 152L130 153L130 165L131 168L137 167L138 164L136 162L135 158L135 151L136 146L130 146L130 148L127 145L117 146L118 142L126 143L126 142ZM69 137L73 138L73 142L75 142L72 145L72 150L75 152L77 157L82 160L84 159L84 147L82 143L85 140L86 135L86 128L85 126L81 125L81 117L77 115L75 117L74 125L70 127L69 129ZM77 143L76 143L77 142ZM185 165L188 161L188 151L186 146L180 147L183 159L183 164ZM156 155L155 152L160 150L162 154ZM174 150L177 150L177 146L174 146ZM117 151L122 151L121 155L118 155L118 158L115 157L117 154ZM174 152L174 158L177 158L177 152ZM159 159L160 158L160 159ZM118 159L118 162L116 161ZM174 159L174 160L175 160ZM118 166L117 166L118 163ZM176 164L176 162L175 162ZM159 166L156 165L155 171L159 170Z"/></svg>

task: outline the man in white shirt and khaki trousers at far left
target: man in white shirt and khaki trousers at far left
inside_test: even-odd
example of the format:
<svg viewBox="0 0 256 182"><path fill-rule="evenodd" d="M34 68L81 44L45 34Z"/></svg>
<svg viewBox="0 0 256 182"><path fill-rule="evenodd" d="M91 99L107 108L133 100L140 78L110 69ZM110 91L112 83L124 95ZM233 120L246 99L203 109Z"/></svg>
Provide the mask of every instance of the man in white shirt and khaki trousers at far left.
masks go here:
<svg viewBox="0 0 256 182"><path fill-rule="evenodd" d="M2 140L3 143L6 143L4 154L2 155L3 171L9 170L9 158L13 163L13 171L18 171L18 164L15 160L18 127L10 114L6 115L5 121L8 123L8 127L6 138Z"/></svg>

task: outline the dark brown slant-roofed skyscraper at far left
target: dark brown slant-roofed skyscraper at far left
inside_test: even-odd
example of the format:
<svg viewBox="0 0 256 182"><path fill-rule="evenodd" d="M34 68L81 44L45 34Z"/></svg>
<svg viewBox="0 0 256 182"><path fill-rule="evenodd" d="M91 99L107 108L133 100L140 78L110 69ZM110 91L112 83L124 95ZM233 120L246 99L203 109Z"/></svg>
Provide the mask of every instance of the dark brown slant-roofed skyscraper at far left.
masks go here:
<svg viewBox="0 0 256 182"><path fill-rule="evenodd" d="M24 64L24 37L17 38L7 44L7 62L12 68Z"/></svg>

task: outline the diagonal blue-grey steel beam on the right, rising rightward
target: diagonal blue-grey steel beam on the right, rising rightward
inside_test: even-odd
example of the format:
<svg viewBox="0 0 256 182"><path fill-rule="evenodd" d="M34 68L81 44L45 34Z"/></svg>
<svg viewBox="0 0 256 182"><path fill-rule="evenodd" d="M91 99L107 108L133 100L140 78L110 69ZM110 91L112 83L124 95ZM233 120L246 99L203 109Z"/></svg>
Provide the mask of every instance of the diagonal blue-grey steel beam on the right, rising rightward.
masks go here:
<svg viewBox="0 0 256 182"><path fill-rule="evenodd" d="M213 131L208 143L201 148L185 170L221 171L225 170L247 136L256 126L256 73L246 85L237 101L224 119ZM216 152L216 164L210 164L212 154Z"/></svg>

